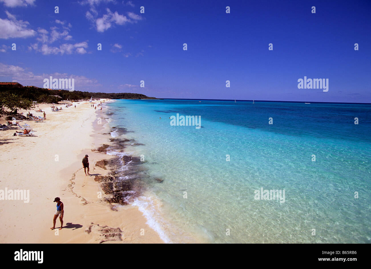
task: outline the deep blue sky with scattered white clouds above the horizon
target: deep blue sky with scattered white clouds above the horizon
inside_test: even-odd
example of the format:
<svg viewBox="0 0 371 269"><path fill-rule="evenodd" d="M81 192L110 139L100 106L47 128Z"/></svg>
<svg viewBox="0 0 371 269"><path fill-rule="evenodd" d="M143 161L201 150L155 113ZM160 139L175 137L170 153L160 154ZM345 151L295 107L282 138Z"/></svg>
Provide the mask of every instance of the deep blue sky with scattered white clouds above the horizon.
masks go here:
<svg viewBox="0 0 371 269"><path fill-rule="evenodd" d="M51 75L74 78L75 90L159 98L371 103L371 1L0 0L0 6L1 81L42 87ZM328 92L298 89L304 76L328 79Z"/></svg>

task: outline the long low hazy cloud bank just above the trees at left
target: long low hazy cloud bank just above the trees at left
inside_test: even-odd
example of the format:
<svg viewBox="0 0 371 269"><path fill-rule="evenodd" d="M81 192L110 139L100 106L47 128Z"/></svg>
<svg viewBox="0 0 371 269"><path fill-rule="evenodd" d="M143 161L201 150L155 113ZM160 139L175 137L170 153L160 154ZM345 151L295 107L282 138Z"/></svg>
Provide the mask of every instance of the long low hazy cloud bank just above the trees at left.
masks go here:
<svg viewBox="0 0 371 269"><path fill-rule="evenodd" d="M69 78L75 79L75 89L82 91L99 90L102 84L98 83L96 79L89 79L88 77L78 76L68 73L53 73L53 74L39 74L26 71L20 66L13 66L9 64L0 63L0 77L10 77L11 80L17 81L22 85L33 85L36 87L43 87L44 79L50 76L54 78ZM10 80L9 80L10 81Z"/></svg>

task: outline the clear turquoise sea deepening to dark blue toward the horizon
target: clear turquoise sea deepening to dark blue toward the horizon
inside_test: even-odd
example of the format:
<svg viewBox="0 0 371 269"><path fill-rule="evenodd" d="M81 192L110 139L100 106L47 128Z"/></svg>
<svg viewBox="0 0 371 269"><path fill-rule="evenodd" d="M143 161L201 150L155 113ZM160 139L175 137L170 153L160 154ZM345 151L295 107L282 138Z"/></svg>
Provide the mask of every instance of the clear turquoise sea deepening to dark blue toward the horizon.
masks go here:
<svg viewBox="0 0 371 269"><path fill-rule="evenodd" d="M371 105L107 105L114 113L110 125L145 144L125 149L143 155L150 176L133 204L165 242L371 242ZM169 117L177 113L201 116L202 127L171 126ZM256 200L261 188L285 190L284 202Z"/></svg>

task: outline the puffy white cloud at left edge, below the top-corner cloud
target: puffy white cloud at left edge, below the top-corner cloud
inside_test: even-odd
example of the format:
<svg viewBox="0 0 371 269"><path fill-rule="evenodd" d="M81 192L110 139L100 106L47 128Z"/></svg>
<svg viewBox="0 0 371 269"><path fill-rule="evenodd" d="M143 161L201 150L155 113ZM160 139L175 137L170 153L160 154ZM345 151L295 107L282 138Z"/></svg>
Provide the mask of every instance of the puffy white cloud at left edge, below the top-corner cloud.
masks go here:
<svg viewBox="0 0 371 269"><path fill-rule="evenodd" d="M27 29L28 21L0 19L0 38L26 38L35 36L36 31Z"/></svg>

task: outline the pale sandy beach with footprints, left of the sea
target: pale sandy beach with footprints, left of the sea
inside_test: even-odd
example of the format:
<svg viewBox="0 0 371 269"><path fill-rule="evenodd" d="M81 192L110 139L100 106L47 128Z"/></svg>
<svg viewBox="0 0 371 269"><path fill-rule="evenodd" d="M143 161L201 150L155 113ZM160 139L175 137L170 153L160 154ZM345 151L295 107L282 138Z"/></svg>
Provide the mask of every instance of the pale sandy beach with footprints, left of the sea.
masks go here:
<svg viewBox="0 0 371 269"><path fill-rule="evenodd" d="M85 154L89 155L91 174L104 175L108 171L95 163L110 156L92 152L104 143L102 141L111 138L99 133L104 126L99 130L94 124L105 114L82 102L76 109L70 107L55 113L48 112L49 106L39 104L39 108L47 113L45 122L20 122L32 125L36 136L10 137L15 129L0 133L4 167L0 189L30 190L29 203L0 201L3 203L0 242L163 243L146 224L147 219L138 207L128 205L111 210L107 202L97 197L100 189L94 177L83 175L81 159ZM56 196L65 205L65 216L63 229L51 231L52 212L55 211L52 201ZM59 219L56 220L58 227ZM144 229L144 235L141 229Z"/></svg>

